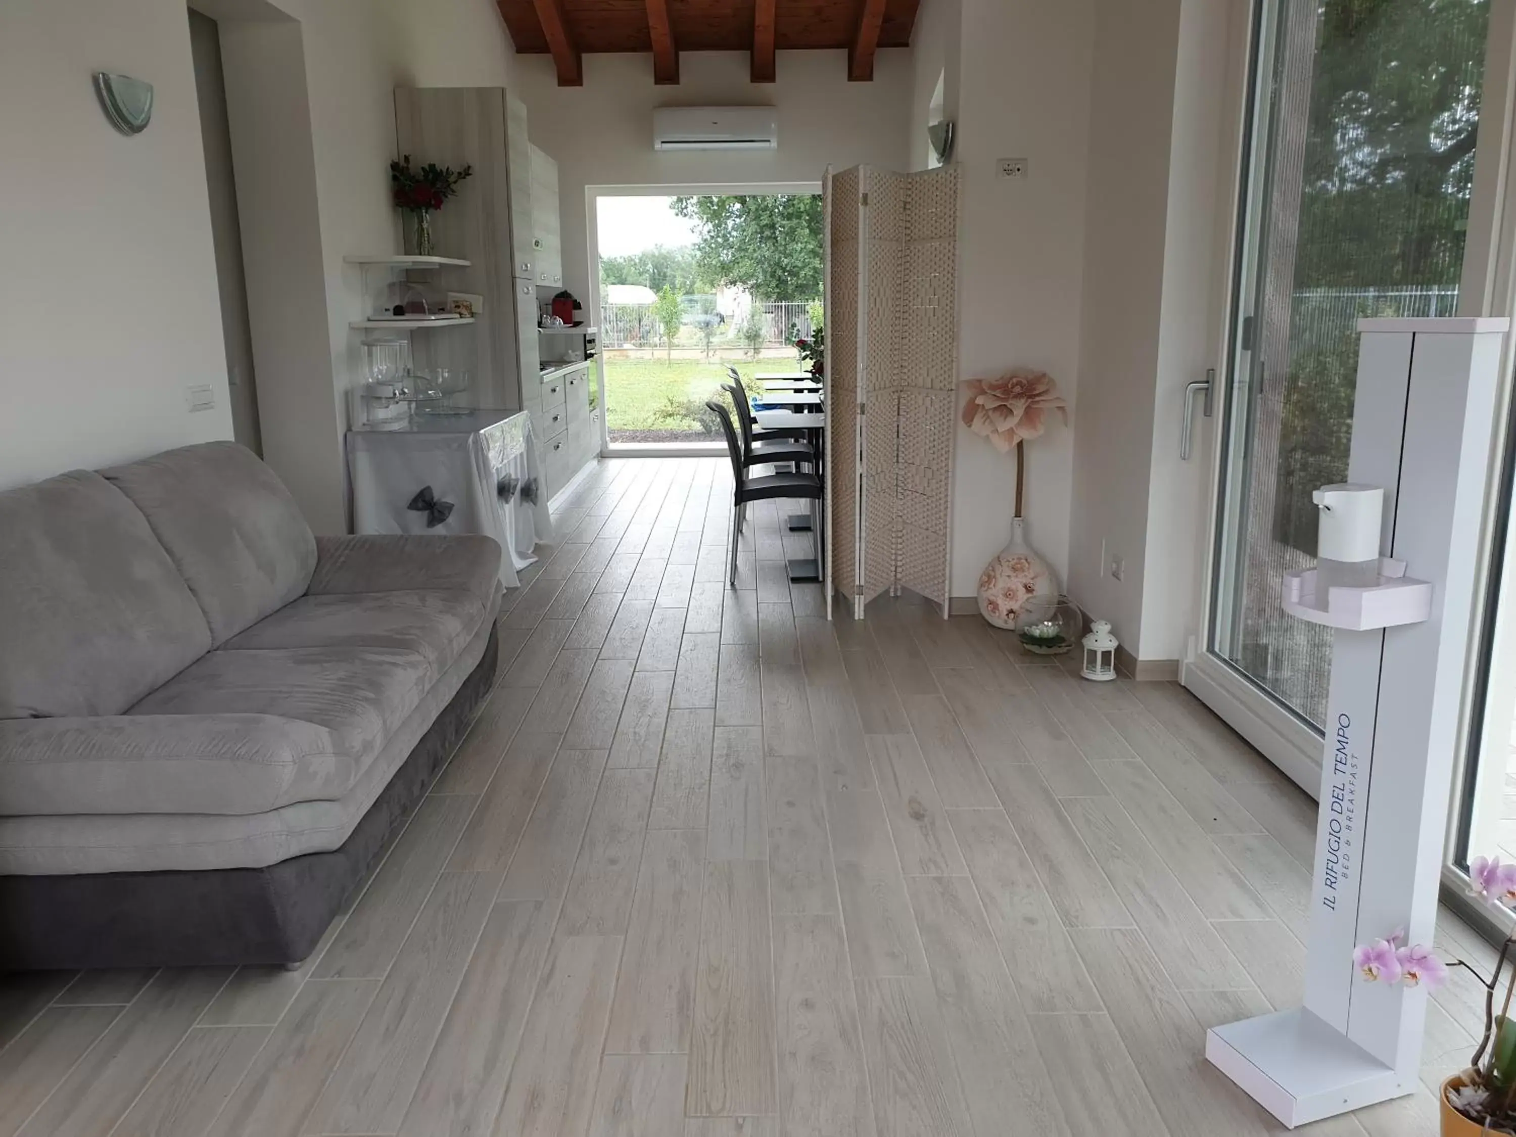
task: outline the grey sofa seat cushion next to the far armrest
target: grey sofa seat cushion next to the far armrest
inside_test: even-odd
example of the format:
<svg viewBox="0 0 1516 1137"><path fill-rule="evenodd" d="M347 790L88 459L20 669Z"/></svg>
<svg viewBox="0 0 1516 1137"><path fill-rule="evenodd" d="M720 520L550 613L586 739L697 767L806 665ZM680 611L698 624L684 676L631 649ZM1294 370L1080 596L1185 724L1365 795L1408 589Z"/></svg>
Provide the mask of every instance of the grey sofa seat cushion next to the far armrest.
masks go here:
<svg viewBox="0 0 1516 1137"><path fill-rule="evenodd" d="M470 593L302 596L227 640L221 650L396 647L421 655L435 679L473 638L484 611Z"/></svg>

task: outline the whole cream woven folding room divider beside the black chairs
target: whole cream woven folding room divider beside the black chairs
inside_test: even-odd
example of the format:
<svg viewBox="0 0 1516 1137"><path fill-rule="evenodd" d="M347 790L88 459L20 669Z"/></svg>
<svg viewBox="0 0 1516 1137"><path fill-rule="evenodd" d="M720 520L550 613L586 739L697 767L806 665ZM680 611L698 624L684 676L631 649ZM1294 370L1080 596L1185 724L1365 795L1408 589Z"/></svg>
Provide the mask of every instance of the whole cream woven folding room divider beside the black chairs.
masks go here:
<svg viewBox="0 0 1516 1137"><path fill-rule="evenodd" d="M958 171L828 171L831 594L946 612L958 379Z"/></svg>

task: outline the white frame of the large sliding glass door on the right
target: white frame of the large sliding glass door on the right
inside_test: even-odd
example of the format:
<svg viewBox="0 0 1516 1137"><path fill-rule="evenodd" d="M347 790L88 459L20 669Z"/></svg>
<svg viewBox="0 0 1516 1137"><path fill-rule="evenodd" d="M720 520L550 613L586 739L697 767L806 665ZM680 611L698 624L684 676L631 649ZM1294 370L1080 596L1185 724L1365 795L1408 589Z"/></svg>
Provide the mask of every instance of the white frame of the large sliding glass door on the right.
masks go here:
<svg viewBox="0 0 1516 1137"><path fill-rule="evenodd" d="M1208 517L1204 538L1195 555L1202 565L1201 587L1192 609L1192 635L1187 658L1181 666L1181 682L1214 709L1233 729L1267 756L1280 770L1298 782L1313 797L1320 788L1322 735L1295 709L1264 691L1228 659L1211 650L1217 567L1220 562L1226 512L1220 496L1226 493L1228 421L1237 399L1246 388L1233 377L1236 358L1236 311L1245 299L1242 290L1254 287L1245 279L1252 267L1249 241L1255 238L1251 211L1267 194L1267 179L1252 173L1266 170L1269 147L1267 120L1260 114L1260 102L1270 97L1273 52L1278 49L1278 12L1284 0L1254 0L1251 17L1237 20L1239 32L1229 44L1237 76L1229 99L1229 136L1222 143L1222 161L1229 170L1220 179L1226 186L1228 205L1219 211L1231 223L1228 240L1220 243L1225 264L1216 265L1216 279L1225 282L1226 300L1219 305L1219 326L1213 337L1216 352L1216 412L1210 420L1210 437L1201 456L1208 456L1207 494ZM1460 315L1516 315L1516 186L1513 182L1513 97L1516 97L1516 0L1490 0L1490 35L1486 49L1484 86L1477 136L1477 165L1469 208L1466 253L1460 285ZM1507 341L1504 373L1511 373L1511 344ZM1505 397L1510 397L1507 382ZM1493 497L1493 496L1492 496ZM1493 529L1493 509L1487 534ZM1489 544L1486 546L1489 547ZM1516 549L1507 547L1510 565L1505 579L1516 582ZM1489 565L1490 558L1484 558ZM1516 596L1516 584L1511 585ZM1516 599L1513 599L1516 628ZM1471 658L1471 678L1477 661ZM1516 679L1516 676L1513 676ZM1475 684L1464 684L1466 696ZM1466 697L1464 722L1471 722ZM1495 729L1495 728L1492 728ZM1508 729L1508 725L1507 725ZM1467 731L1464 732L1467 737ZM1467 749L1467 747L1464 747ZM1466 761L1460 755L1460 769ZM1460 779L1455 781L1461 785ZM1449 811L1457 819L1457 811ZM1455 826L1449 826L1449 852ZM1457 876L1454 870L1451 879Z"/></svg>

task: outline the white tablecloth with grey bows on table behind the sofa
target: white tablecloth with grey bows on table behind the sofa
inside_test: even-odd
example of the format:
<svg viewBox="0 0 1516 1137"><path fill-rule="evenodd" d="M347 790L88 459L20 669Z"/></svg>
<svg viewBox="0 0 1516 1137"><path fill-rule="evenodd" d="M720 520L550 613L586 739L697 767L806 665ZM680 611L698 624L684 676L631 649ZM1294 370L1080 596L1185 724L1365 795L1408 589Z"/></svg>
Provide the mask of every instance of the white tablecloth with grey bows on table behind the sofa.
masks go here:
<svg viewBox="0 0 1516 1137"><path fill-rule="evenodd" d="M349 431L353 532L484 534L500 543L500 584L517 588L538 541L550 541L552 517L541 479L532 418L525 411L417 415L403 431ZM452 503L412 508L431 499ZM429 522L435 522L429 525Z"/></svg>

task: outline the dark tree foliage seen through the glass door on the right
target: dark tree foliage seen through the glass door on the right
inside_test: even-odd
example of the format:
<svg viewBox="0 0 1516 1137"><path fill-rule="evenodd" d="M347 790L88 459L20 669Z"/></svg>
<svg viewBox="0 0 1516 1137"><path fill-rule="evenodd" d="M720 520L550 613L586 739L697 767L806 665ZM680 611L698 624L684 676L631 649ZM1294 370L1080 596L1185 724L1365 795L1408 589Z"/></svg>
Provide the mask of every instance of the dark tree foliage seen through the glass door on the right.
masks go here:
<svg viewBox="0 0 1516 1137"><path fill-rule="evenodd" d="M1458 288L1489 0L1323 0L1304 123L1272 535L1316 552L1311 490L1348 476L1357 320L1446 315ZM1387 290L1411 290L1393 293Z"/></svg>

